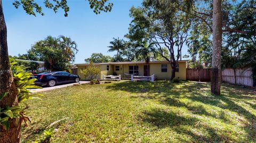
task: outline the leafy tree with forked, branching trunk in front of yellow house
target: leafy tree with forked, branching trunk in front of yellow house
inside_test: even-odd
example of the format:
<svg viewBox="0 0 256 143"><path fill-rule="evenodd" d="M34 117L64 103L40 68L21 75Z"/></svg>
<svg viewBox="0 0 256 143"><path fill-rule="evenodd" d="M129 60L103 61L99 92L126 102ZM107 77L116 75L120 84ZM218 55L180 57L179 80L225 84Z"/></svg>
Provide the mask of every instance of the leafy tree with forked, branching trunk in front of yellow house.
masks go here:
<svg viewBox="0 0 256 143"><path fill-rule="evenodd" d="M175 77L175 68L178 66L181 49L190 29L190 17L175 8L176 5L178 4L175 1L145 0L142 7L137 9L132 7L130 10L133 20L130 24L129 35L143 33L142 36L146 35L145 38L156 44L162 57L169 61L172 67L171 79ZM141 40L141 37L138 37L138 40ZM169 56L165 55L164 48L168 49Z"/></svg>

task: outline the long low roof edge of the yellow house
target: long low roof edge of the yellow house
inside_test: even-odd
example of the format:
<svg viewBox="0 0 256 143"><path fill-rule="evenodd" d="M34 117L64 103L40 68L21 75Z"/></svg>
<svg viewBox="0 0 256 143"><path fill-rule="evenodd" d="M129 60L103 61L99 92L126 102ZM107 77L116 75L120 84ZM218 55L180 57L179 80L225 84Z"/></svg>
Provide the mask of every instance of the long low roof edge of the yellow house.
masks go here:
<svg viewBox="0 0 256 143"><path fill-rule="evenodd" d="M181 60L178 61L181 62L187 62L188 60ZM150 61L149 63L168 63L168 61ZM145 61L142 62L110 62L110 63L94 63L94 65L104 65L104 64L146 64ZM83 63L83 64L75 64L75 65L89 65L89 63Z"/></svg>

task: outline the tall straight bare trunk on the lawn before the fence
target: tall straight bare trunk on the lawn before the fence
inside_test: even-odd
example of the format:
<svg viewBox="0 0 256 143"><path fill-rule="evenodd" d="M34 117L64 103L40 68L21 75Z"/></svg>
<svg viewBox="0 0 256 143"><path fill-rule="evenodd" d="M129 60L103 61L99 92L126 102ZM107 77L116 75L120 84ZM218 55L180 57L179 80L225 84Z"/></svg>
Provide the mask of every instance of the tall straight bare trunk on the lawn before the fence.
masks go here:
<svg viewBox="0 0 256 143"><path fill-rule="evenodd" d="M213 0L213 49L211 92L220 95L221 86L221 43L222 43L222 12L221 0Z"/></svg>

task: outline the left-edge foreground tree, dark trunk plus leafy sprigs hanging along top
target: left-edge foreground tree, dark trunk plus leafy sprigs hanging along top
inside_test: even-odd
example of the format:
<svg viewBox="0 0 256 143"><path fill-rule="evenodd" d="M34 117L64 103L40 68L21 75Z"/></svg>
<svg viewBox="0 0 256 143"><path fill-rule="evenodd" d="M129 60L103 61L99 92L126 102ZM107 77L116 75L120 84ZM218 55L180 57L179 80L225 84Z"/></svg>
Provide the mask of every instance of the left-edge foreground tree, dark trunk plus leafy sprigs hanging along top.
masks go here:
<svg viewBox="0 0 256 143"><path fill-rule="evenodd" d="M93 9L94 13L99 14L101 11L111 11L113 6L112 3L107 4L107 0L103 1L94 1L89 0L90 7ZM58 12L58 9L63 9L65 11L65 16L68 16L69 7L67 4L67 0L55 0L48 1L44 0L45 7L49 9L53 9L54 12ZM107 5L106 5L107 4ZM29 15L36 15L39 13L44 15L42 12L42 7L38 5L34 1L19 1L15 0L13 5L18 9L18 7L22 7L23 10L26 11ZM5 106L16 106L18 104L17 98L17 88L14 85L14 79L12 72L10 72L10 64L9 64L9 54L7 47L7 28L4 19L3 13L3 4L2 0L0 0L0 95L8 92L7 96L5 96L0 101L0 107ZM18 122L18 124L17 124ZM4 128L0 127L0 141L2 142L20 142L20 129L21 129L21 120L19 119L9 119L10 130L7 131ZM0 125L1 126L1 125Z"/></svg>

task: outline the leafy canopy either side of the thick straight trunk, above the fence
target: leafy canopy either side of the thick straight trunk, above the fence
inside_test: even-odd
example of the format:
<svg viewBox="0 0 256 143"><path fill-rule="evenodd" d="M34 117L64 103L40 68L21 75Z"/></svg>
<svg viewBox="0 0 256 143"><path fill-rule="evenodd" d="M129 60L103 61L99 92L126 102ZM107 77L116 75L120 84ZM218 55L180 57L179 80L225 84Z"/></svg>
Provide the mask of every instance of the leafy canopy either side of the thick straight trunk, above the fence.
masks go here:
<svg viewBox="0 0 256 143"><path fill-rule="evenodd" d="M187 12L182 7L179 9ZM188 42L189 53L204 63L211 61L212 11L211 1L195 1L192 10L187 12L195 18ZM239 68L250 63L243 58L243 53L247 45L255 45L255 14L254 0L222 2L222 68Z"/></svg>

